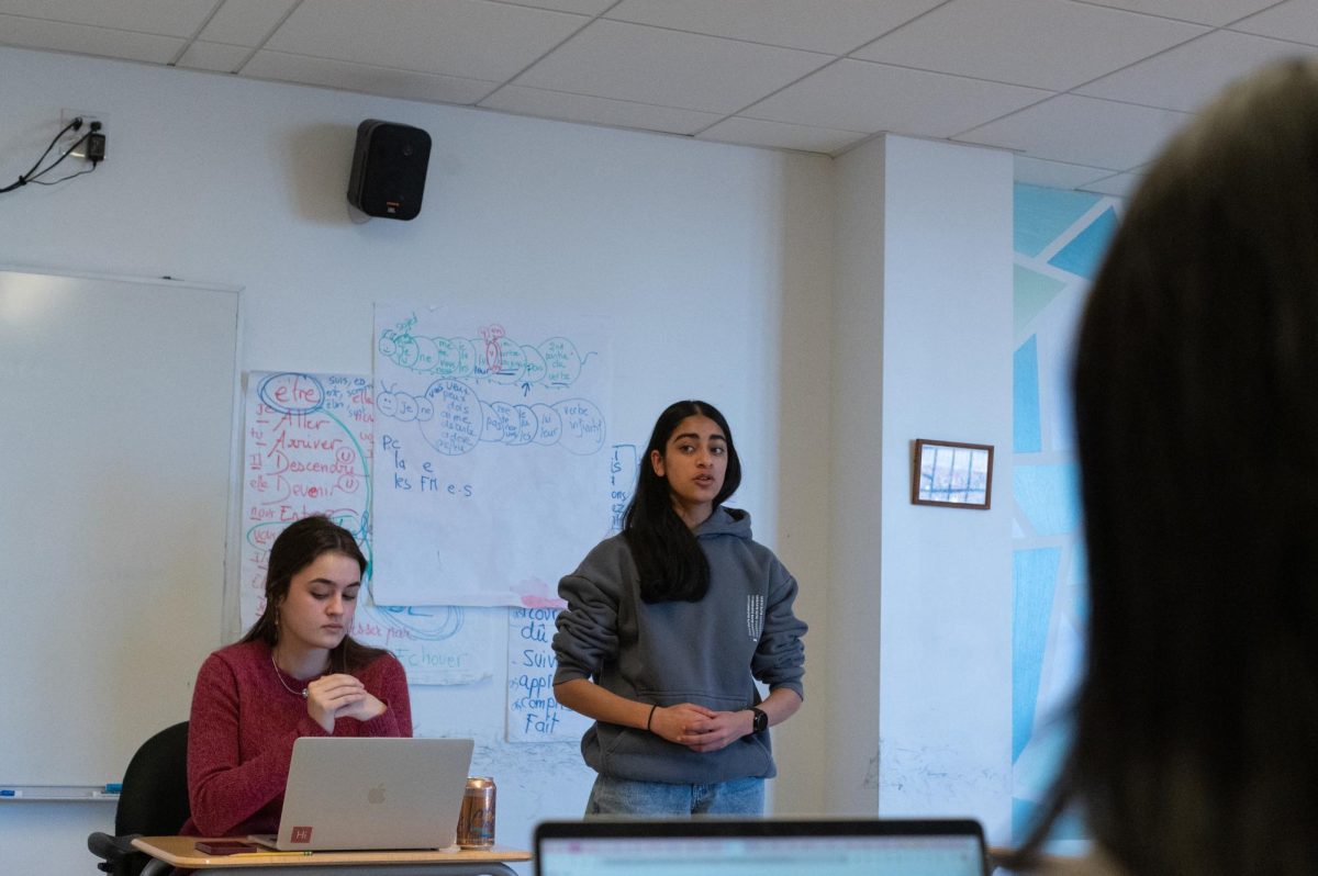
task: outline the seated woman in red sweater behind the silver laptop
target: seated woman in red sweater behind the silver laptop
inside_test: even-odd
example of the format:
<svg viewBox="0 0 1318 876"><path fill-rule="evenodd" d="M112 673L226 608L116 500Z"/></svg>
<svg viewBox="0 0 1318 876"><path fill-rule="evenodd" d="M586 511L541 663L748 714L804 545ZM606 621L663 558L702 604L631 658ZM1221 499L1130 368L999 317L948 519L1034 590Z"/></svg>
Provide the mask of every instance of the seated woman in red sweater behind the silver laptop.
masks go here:
<svg viewBox="0 0 1318 876"><path fill-rule="evenodd" d="M192 836L274 833L298 736L410 736L402 664L348 635L366 572L352 534L324 516L270 549L265 611L206 659L192 693Z"/></svg>

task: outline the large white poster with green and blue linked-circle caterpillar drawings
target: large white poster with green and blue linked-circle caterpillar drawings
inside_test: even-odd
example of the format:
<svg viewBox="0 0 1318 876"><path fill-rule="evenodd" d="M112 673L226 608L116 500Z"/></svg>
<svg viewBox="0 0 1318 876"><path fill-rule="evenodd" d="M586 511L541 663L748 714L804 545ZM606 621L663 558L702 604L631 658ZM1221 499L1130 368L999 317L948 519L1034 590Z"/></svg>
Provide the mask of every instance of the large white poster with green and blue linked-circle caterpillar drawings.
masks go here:
<svg viewBox="0 0 1318 876"><path fill-rule="evenodd" d="M376 307L376 598L551 605L608 534L601 329Z"/></svg>

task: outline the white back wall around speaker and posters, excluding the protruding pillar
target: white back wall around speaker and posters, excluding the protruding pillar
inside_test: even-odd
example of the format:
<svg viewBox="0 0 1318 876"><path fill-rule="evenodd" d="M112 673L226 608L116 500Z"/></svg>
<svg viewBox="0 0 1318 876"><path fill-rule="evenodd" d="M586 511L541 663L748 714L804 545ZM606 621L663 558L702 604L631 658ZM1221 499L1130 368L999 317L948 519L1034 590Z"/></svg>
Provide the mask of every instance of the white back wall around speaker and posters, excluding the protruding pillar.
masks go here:
<svg viewBox="0 0 1318 876"><path fill-rule="evenodd" d="M241 286L244 371L369 373L374 300L460 300L610 319L614 440L643 443L676 398L720 404L746 469L738 501L800 578L812 626L807 709L775 731L791 776L776 805L825 811L828 159L16 49L0 49L0 184L61 108L101 113L108 132L94 174L0 195L0 262ZM349 220L366 117L434 138L415 221ZM0 661L17 647L5 631ZM477 738L502 789L501 842L580 813L575 746L502 743L501 674L414 689L414 706ZM104 804L7 804L0 869L87 871L84 836L111 818Z"/></svg>

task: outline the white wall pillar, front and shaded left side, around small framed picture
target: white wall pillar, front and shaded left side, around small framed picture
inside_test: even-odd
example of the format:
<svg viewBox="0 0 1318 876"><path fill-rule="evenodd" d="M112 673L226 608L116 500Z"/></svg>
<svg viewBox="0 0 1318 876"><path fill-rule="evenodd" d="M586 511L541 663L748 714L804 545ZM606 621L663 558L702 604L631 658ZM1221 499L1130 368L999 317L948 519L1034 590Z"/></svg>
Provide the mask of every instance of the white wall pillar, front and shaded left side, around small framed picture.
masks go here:
<svg viewBox="0 0 1318 876"><path fill-rule="evenodd" d="M970 814L994 838L1011 800L1011 184L1006 153L903 137L838 162L834 784L851 811ZM917 437L995 445L991 510L911 505Z"/></svg>

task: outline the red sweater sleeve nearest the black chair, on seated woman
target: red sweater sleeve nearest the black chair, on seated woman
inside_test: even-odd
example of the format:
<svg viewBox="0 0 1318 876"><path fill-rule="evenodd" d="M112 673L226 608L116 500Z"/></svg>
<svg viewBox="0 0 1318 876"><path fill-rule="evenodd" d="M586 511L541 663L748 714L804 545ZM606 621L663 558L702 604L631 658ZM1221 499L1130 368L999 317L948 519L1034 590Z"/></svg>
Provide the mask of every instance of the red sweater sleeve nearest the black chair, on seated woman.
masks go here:
<svg viewBox="0 0 1318 876"><path fill-rule="evenodd" d="M207 836L225 836L283 794L298 736L326 732L310 715L297 728L272 732L260 753L240 759L239 680L217 655L196 674L187 742L187 788L192 822Z"/></svg>

